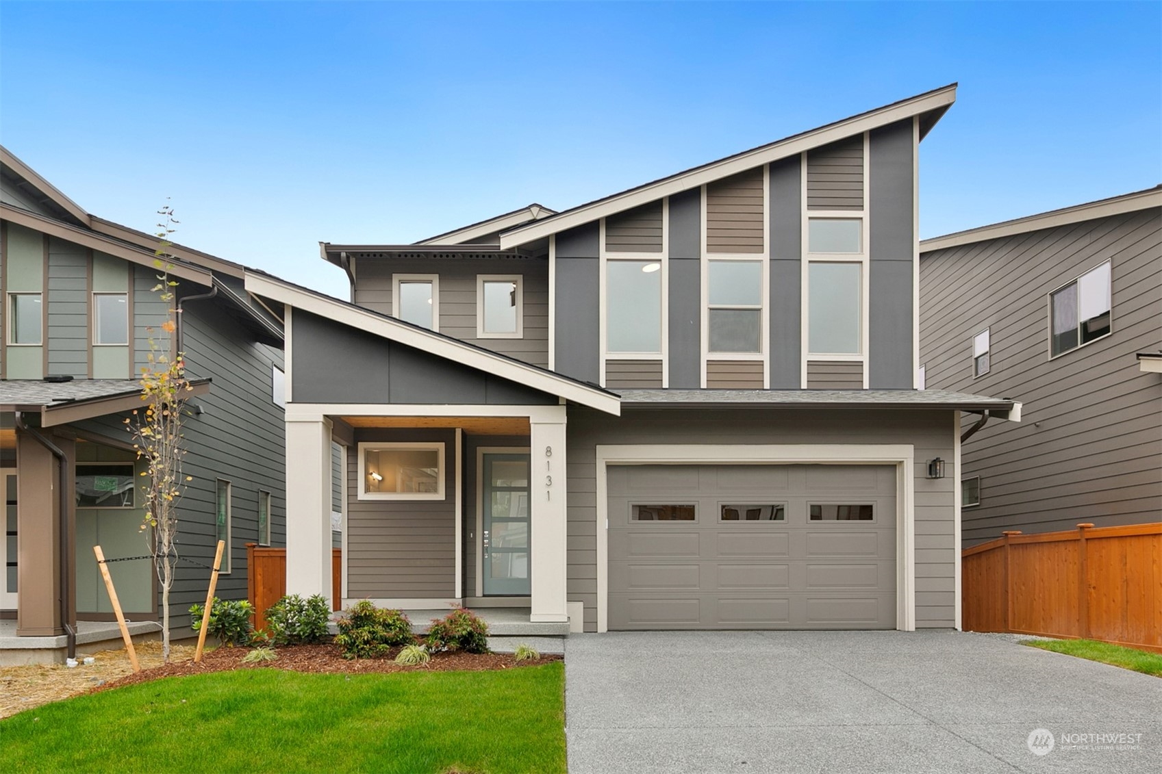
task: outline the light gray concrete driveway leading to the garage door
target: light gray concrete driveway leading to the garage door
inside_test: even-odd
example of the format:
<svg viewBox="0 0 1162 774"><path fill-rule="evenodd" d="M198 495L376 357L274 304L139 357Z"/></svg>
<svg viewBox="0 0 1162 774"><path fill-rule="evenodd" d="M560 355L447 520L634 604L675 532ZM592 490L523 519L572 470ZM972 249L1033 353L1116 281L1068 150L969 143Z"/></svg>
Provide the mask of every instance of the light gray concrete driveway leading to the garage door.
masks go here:
<svg viewBox="0 0 1162 774"><path fill-rule="evenodd" d="M619 632L565 650L572 774L1156 774L1162 760L1162 679L998 635ZM1037 729L1054 736L1042 755ZM1119 733L1141 736L1073 736Z"/></svg>

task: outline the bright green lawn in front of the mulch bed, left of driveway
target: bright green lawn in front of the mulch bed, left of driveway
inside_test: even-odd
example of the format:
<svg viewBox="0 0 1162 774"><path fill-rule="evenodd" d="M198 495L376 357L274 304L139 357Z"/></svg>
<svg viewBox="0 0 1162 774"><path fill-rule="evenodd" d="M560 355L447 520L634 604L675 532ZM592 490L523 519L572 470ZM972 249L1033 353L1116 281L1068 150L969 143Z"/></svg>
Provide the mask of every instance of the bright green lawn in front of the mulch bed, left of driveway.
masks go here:
<svg viewBox="0 0 1162 774"><path fill-rule="evenodd" d="M565 772L560 662L167 678L0 721L0 772Z"/></svg>

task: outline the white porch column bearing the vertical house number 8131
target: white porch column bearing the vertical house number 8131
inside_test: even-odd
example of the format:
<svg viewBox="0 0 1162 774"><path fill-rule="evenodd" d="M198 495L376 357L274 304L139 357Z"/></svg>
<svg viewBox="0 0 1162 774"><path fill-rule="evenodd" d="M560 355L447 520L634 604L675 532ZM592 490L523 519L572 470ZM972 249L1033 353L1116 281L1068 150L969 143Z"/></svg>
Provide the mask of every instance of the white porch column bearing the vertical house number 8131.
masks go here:
<svg viewBox="0 0 1162 774"><path fill-rule="evenodd" d="M565 407L530 417L531 622L569 619L566 599Z"/></svg>

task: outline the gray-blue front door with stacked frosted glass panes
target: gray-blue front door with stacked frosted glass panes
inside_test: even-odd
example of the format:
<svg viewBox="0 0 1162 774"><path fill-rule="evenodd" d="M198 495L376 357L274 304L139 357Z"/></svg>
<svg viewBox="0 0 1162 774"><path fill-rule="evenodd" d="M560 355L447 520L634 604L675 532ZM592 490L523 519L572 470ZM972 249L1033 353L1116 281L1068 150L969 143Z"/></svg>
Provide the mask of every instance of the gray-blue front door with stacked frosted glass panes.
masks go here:
<svg viewBox="0 0 1162 774"><path fill-rule="evenodd" d="M482 454L482 567L486 595L528 596L529 454Z"/></svg>

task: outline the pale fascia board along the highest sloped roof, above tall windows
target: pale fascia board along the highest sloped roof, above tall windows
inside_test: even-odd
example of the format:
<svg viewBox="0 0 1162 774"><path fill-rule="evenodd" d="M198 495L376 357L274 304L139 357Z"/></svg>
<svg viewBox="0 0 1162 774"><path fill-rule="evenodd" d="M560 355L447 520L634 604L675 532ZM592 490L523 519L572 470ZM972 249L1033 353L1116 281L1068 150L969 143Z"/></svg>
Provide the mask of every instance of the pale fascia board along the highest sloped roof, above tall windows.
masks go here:
<svg viewBox="0 0 1162 774"><path fill-rule="evenodd" d="M559 234L595 221L598 217L640 207L641 205L648 205L664 196L670 196L689 188L697 188L698 186L745 172L762 164L797 156L803 151L826 145L845 137L851 137L852 135L862 134L889 123L895 123L896 121L903 121L904 119L910 119L913 115L927 113L928 110L947 108L955 101L956 87L946 86L896 105L845 119L819 129L762 145L720 162L713 162L695 167L694 170L680 172L657 182L631 188L608 199L602 199L590 205L582 205L559 215L512 229L511 231L501 234L501 248L516 248L533 239L544 238L550 234Z"/></svg>

